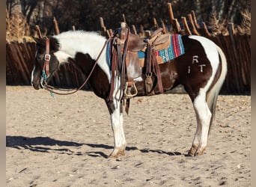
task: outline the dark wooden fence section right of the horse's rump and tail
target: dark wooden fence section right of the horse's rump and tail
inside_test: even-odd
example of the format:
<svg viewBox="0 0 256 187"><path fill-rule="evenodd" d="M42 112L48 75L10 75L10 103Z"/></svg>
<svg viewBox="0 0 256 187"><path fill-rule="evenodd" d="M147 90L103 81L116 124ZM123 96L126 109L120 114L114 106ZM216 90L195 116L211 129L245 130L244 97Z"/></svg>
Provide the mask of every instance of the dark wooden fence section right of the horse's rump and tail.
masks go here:
<svg viewBox="0 0 256 187"><path fill-rule="evenodd" d="M228 61L222 93L251 93L251 35L209 37L219 45Z"/></svg>

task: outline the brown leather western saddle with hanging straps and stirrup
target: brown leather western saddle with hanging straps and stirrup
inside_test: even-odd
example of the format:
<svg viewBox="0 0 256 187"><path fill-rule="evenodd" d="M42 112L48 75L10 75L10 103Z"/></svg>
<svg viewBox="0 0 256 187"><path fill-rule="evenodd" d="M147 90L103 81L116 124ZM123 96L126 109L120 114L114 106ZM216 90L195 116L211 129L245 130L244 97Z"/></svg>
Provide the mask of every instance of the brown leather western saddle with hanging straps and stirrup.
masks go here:
<svg viewBox="0 0 256 187"><path fill-rule="evenodd" d="M145 90L147 95L154 94L154 88L158 85L159 92L163 93L162 79L159 64L162 58L156 56L156 51L166 49L171 43L169 34L162 34L162 28L153 31L150 37L139 37L130 33L126 23L121 23L121 28L115 30L111 45L112 81L109 98L112 99L114 91L115 73L121 76L121 89L124 91L122 99L135 96L138 91L135 87L135 79L141 77L141 68L145 68ZM144 58L138 58L138 52L144 54ZM152 79L154 76L154 79ZM128 113L128 108L126 109Z"/></svg>

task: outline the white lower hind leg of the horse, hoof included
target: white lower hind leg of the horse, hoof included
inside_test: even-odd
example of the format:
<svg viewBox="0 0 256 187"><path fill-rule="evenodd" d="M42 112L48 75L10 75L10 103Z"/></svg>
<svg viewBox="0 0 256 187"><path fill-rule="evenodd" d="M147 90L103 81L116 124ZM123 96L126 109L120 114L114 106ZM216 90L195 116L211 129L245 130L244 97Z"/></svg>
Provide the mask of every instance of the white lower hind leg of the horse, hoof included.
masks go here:
<svg viewBox="0 0 256 187"><path fill-rule="evenodd" d="M195 108L196 119L198 122L195 138L192 142L192 147L189 150L189 155L202 155L207 146L208 132L210 128L210 118L212 116L206 102L206 93L200 91L193 102Z"/></svg>

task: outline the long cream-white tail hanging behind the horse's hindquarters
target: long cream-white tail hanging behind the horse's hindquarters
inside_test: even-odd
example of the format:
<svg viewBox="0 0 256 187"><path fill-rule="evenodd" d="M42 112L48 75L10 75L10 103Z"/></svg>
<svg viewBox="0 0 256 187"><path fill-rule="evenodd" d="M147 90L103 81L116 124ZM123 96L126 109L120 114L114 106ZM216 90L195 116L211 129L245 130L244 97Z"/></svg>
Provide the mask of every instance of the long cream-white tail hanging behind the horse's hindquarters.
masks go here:
<svg viewBox="0 0 256 187"><path fill-rule="evenodd" d="M219 58L220 58L219 68L221 69L221 72L219 74L219 78L217 78L216 82L213 83L214 85L212 85L210 90L207 92L207 104L212 113L212 117L210 119L210 126L213 125L214 120L215 120L217 97L219 95L219 91L222 88L223 82L225 81L225 77L226 77L227 70L228 70L225 54L223 53L222 49L220 49L219 46L216 46L216 49L219 53Z"/></svg>

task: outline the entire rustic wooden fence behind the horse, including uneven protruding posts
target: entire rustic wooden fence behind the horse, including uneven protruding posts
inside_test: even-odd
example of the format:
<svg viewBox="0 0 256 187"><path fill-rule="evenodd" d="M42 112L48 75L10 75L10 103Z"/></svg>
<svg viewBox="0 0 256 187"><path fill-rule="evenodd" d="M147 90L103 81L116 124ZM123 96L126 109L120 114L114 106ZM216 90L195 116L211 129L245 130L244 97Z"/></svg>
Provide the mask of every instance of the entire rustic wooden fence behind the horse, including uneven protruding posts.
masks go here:
<svg viewBox="0 0 256 187"><path fill-rule="evenodd" d="M222 86L222 93L251 93L251 35L248 34L235 34L234 25L228 25L228 35L223 34L210 34L207 25L201 22L198 24L195 12L192 11L187 15L181 17L182 23L175 19L172 11L171 3L167 4L168 14L172 26L172 34L195 34L208 37L213 40L224 51L228 60L228 74ZM124 17L124 14L123 14ZM188 22L187 22L188 20ZM154 28L159 25L154 21ZM55 25L55 34L59 34L58 22L53 19ZM125 22L125 17L124 17ZM112 29L106 29L103 18L100 18L100 26L102 28L101 34L110 37L112 36ZM165 24L161 24L163 33L167 33ZM73 28L74 30L74 28ZM144 32L141 28L141 36L147 36L148 32ZM37 27L38 35L40 36L40 28ZM132 25L132 32L137 34L136 28ZM30 85L31 71L34 63L34 55L36 51L35 43L25 42L22 43L6 41L6 84L7 85ZM85 76L79 73L72 65L64 64L59 67L58 72L55 72L50 85L76 88L82 85ZM88 85L85 85L85 89Z"/></svg>

